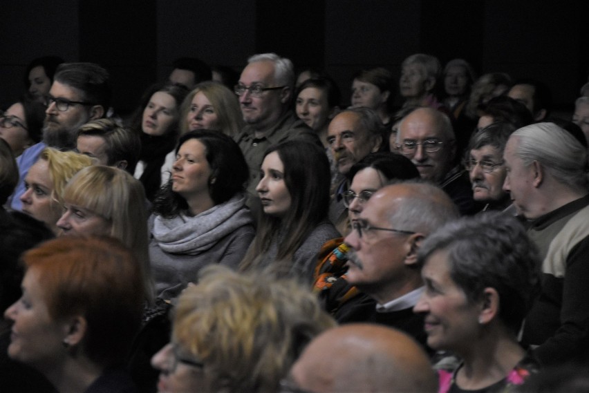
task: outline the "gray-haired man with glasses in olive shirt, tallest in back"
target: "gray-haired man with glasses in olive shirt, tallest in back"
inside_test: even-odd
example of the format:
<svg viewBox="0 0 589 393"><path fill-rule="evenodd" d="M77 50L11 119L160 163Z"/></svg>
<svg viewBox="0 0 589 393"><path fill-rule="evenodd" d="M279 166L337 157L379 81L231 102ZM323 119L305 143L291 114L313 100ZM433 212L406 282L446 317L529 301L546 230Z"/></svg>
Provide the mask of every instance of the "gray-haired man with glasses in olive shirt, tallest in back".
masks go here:
<svg viewBox="0 0 589 393"><path fill-rule="evenodd" d="M250 167L247 186L250 206L254 206L252 200L257 198L260 166L268 147L293 138L322 146L317 135L292 111L293 87L292 61L276 53L263 53L247 59L234 88L246 124L235 141Z"/></svg>

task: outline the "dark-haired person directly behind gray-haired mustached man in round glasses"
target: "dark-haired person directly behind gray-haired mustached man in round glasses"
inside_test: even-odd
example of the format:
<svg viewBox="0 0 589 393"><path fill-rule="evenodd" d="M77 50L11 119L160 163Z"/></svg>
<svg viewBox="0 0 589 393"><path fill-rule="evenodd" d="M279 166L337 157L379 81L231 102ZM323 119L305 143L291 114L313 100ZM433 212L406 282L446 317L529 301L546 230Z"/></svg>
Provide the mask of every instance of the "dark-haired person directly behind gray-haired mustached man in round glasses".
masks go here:
<svg viewBox="0 0 589 393"><path fill-rule="evenodd" d="M505 95L493 97L487 104L479 106L478 114L476 126L479 130L495 122L511 123L517 129L534 121L525 104Z"/></svg>

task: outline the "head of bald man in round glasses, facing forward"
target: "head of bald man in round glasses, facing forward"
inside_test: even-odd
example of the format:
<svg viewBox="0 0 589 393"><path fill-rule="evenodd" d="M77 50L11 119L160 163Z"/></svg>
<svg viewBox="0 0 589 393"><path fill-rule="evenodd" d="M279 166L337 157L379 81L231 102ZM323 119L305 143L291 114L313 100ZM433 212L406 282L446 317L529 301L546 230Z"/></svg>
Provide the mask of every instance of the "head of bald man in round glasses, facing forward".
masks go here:
<svg viewBox="0 0 589 393"><path fill-rule="evenodd" d="M423 179L433 182L441 182L451 169L455 139L450 119L433 108L418 108L406 115L397 133L399 151L411 159ZM424 142L430 142L426 148Z"/></svg>

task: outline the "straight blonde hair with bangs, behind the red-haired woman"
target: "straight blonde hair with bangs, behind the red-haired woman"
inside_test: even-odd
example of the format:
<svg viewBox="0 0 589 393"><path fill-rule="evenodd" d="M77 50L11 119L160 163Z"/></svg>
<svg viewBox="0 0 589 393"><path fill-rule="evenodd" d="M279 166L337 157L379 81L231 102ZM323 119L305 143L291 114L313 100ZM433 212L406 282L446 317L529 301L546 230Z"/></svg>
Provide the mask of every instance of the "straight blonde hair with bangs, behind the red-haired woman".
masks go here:
<svg viewBox="0 0 589 393"><path fill-rule="evenodd" d="M146 298L151 301L153 282L147 251L147 208L141 182L113 166L88 166L68 182L63 198L66 204L88 209L109 220L110 236L129 247L141 262Z"/></svg>

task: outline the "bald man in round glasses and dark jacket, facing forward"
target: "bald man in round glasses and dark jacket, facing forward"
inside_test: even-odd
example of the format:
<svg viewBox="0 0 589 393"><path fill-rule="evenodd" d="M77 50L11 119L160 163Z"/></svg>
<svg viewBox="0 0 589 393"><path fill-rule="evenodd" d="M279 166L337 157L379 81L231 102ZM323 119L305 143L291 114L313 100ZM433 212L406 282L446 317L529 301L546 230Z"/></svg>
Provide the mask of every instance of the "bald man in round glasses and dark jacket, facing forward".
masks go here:
<svg viewBox="0 0 589 393"><path fill-rule="evenodd" d="M464 169L455 164L456 137L449 117L433 108L417 108L399 125L397 150L411 159L424 180L438 184L460 214L480 210Z"/></svg>

